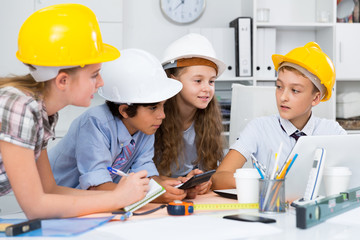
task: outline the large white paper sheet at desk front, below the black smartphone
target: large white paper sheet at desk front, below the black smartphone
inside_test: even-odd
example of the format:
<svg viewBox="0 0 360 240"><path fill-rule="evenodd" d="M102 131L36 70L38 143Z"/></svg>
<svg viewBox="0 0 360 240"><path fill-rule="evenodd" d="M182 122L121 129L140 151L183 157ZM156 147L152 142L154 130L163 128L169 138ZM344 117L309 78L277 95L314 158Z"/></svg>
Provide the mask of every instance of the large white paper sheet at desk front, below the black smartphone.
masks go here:
<svg viewBox="0 0 360 240"><path fill-rule="evenodd" d="M218 215L175 216L128 222L110 222L96 231L121 239L237 239L281 233L275 225L240 222Z"/></svg>

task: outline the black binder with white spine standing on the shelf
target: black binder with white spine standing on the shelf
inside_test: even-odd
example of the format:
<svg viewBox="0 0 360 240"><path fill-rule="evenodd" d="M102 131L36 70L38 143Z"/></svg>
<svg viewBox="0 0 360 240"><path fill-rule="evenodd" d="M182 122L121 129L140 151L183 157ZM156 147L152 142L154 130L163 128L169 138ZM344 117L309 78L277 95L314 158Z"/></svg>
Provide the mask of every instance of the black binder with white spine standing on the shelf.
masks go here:
<svg viewBox="0 0 360 240"><path fill-rule="evenodd" d="M235 28L235 73L237 77L251 77L252 72L252 19L238 17L230 22Z"/></svg>

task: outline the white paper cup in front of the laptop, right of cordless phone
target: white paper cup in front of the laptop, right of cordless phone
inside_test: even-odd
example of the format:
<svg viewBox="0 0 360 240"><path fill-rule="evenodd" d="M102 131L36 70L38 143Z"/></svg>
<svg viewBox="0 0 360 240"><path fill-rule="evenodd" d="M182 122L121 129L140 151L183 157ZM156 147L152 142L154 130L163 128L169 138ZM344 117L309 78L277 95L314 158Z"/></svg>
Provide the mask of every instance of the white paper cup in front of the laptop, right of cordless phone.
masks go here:
<svg viewBox="0 0 360 240"><path fill-rule="evenodd" d="M326 167L323 175L326 196L347 191L351 175L347 167Z"/></svg>

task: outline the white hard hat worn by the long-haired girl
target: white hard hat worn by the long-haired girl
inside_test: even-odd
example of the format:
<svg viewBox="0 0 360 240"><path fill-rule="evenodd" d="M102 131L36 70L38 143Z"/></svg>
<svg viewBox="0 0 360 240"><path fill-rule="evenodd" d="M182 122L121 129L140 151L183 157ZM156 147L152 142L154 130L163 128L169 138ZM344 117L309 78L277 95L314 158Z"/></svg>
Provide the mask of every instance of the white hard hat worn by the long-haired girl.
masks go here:
<svg viewBox="0 0 360 240"><path fill-rule="evenodd" d="M210 41L197 33L187 34L171 43L165 50L162 65L164 69L177 67L176 60L184 58L203 58L217 66L217 76L220 76L226 68L226 64L216 58L215 50Z"/></svg>

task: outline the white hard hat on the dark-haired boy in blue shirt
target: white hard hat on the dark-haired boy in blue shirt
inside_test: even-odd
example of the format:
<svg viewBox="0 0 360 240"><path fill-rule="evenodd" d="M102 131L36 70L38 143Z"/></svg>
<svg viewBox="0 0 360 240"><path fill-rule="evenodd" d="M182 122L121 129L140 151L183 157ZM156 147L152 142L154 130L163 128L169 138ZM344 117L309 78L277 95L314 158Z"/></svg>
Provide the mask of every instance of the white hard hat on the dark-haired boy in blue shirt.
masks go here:
<svg viewBox="0 0 360 240"><path fill-rule="evenodd" d="M121 57L103 63L104 86L98 93L115 103L156 103L171 98L182 84L168 78L160 61L140 49L124 49Z"/></svg>

